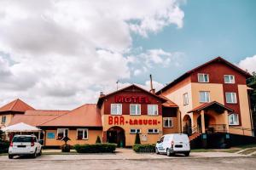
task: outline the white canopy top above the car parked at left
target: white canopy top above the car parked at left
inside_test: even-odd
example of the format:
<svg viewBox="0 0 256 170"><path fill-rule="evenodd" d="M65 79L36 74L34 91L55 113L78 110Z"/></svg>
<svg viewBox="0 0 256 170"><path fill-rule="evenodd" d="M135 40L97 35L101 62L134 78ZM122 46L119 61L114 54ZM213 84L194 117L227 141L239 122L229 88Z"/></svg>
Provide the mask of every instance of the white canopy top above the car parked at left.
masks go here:
<svg viewBox="0 0 256 170"><path fill-rule="evenodd" d="M32 127L24 122L20 122L8 127L3 127L1 129L3 132L7 133L20 133L20 132L39 132L41 131L38 127Z"/></svg>

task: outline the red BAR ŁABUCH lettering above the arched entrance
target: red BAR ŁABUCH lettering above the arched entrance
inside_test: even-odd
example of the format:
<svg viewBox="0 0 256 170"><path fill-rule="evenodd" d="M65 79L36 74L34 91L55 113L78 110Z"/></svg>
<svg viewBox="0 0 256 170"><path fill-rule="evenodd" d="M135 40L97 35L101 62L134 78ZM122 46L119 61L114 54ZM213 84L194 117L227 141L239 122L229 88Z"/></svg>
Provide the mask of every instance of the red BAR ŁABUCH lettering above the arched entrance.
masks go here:
<svg viewBox="0 0 256 170"><path fill-rule="evenodd" d="M157 125L156 119L129 119L125 121L124 116L108 116L108 125Z"/></svg>

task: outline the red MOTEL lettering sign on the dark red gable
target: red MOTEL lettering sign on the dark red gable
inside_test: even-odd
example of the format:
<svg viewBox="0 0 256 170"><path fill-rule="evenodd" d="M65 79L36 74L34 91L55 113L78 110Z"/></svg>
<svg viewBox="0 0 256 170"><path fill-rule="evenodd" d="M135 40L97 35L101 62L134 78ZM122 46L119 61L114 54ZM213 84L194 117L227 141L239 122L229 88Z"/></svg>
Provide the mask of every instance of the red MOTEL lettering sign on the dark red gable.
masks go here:
<svg viewBox="0 0 256 170"><path fill-rule="evenodd" d="M115 103L150 103L148 97L145 96L115 96L114 101Z"/></svg>

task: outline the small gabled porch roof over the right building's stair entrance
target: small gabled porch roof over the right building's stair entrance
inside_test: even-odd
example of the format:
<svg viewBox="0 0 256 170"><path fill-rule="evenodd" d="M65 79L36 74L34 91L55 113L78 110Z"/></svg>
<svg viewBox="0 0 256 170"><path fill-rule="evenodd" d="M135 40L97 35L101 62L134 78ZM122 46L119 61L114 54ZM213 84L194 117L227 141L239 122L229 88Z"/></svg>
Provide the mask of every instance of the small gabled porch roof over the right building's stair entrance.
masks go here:
<svg viewBox="0 0 256 170"><path fill-rule="evenodd" d="M205 103L203 105L199 105L198 107L195 107L195 109L188 111L188 113L202 111L202 110L215 110L219 113L222 113L223 111L233 112L233 110L230 109L229 107L222 105L222 104L218 103L217 101L212 101L210 103Z"/></svg>

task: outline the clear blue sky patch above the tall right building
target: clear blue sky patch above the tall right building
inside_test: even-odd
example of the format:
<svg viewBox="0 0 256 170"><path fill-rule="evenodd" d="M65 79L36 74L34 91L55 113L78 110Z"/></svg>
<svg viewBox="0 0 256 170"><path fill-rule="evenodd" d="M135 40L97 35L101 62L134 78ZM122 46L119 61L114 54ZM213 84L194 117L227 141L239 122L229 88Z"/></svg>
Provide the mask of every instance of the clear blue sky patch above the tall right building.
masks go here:
<svg viewBox="0 0 256 170"><path fill-rule="evenodd" d="M144 49L162 48L167 52L183 52L179 67L154 67L151 72L157 82L171 82L215 56L230 62L253 56L256 49L256 1L254 0L191 0L181 8L183 28L167 26L148 38L133 35L133 46ZM256 65L256 64L255 64ZM149 73L148 72L148 73ZM131 82L144 82L144 77L132 77Z"/></svg>

